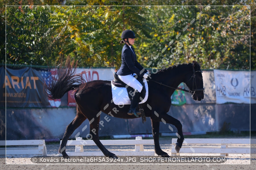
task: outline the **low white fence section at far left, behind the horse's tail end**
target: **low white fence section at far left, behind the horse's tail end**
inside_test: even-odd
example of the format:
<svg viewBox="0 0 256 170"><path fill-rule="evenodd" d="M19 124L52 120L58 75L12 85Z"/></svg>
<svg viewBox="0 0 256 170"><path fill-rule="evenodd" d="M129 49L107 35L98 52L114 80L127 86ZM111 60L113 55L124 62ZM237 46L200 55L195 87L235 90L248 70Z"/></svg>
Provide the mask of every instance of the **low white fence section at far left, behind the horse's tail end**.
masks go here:
<svg viewBox="0 0 256 170"><path fill-rule="evenodd" d="M32 146L38 145L38 147L30 148L13 148L10 146ZM10 140L0 141L0 146L6 146L6 148L0 148L0 155L30 155L36 154L38 156L47 156L46 145L44 140Z"/></svg>

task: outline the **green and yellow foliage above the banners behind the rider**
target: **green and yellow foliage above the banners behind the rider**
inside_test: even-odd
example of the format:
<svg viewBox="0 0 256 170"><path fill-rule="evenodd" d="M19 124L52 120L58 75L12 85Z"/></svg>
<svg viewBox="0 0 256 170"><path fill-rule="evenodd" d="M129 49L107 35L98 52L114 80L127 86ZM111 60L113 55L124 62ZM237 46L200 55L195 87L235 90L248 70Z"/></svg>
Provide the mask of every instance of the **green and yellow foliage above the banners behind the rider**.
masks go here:
<svg viewBox="0 0 256 170"><path fill-rule="evenodd" d="M4 4L0 0L0 5L1 2ZM36 0L7 4L45 6L6 7L6 63L51 66L69 56L80 67L118 68L121 33L131 29L138 37L134 45L138 60L147 68L164 68L193 60L203 69L256 68L253 1L251 8L236 6L249 5L246 0L232 3L197 0L183 4L174 0L70 0L65 4L69 6L61 6L62 3ZM211 6L222 4L234 6ZM3 5L1 9L3 15ZM4 32L3 22L2 17L1 32ZM4 55L4 43L0 45Z"/></svg>

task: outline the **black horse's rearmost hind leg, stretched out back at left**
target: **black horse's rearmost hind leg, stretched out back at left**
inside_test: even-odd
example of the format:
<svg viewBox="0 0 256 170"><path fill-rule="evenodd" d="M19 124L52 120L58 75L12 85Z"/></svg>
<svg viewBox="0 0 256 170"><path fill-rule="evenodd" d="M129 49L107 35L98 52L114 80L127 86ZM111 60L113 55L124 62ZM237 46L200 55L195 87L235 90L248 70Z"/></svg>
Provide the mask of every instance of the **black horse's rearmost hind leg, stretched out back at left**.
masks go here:
<svg viewBox="0 0 256 170"><path fill-rule="evenodd" d="M72 133L75 131L75 129L77 129L82 124L82 122L84 122L84 120L86 120L86 117L77 111L76 117L67 126L66 131L63 136L63 139L62 139L62 142L61 142L61 145L59 147L59 153L61 153L64 158L69 157L66 153L66 145L67 145L67 141L68 141L69 137L72 135Z"/></svg>

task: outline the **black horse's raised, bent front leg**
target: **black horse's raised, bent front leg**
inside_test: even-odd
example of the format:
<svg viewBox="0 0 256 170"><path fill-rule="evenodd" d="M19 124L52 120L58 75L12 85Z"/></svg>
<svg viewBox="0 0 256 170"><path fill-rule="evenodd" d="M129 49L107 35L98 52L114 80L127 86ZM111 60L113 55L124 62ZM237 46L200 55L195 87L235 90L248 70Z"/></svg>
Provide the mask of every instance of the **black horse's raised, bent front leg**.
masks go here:
<svg viewBox="0 0 256 170"><path fill-rule="evenodd" d="M159 115L155 115L152 118L155 121L161 121L161 122L166 122L168 124L172 124L177 128L178 131L178 139L177 139L177 143L175 144L175 150L177 153L179 153L179 150L182 146L182 143L184 141L184 136L183 136L183 132L182 132L182 124L179 120L177 120L176 118L168 115L167 113L164 114L159 114Z"/></svg>

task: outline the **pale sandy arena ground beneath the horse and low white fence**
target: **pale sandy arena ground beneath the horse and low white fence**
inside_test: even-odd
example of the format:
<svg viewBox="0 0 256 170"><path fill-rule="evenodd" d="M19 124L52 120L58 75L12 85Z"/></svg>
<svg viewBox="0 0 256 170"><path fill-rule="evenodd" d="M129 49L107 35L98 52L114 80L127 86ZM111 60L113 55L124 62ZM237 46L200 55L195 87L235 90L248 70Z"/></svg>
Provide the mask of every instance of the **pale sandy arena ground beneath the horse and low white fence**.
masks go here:
<svg viewBox="0 0 256 170"><path fill-rule="evenodd" d="M242 137L238 137L242 138ZM160 140L160 146L162 150L167 152L169 155L171 155L171 138L164 138ZM247 146L248 147L248 146ZM255 147L255 146L254 146ZM41 159L61 159L58 154L58 148L59 148L59 143L46 143L46 148L47 148L47 157L41 158ZM106 148L110 151L131 151L134 150L134 146L106 146ZM84 146L84 151L100 151L97 146ZM144 145L144 150L145 151L153 151L154 146L153 145ZM67 147L67 152L74 152L75 151L75 146L68 146ZM40 169L40 170L62 170L62 169L94 169L94 170L101 170L101 169L111 169L111 170L129 170L129 169L176 169L176 170L183 170L183 169L209 169L209 170L217 170L217 169L256 169L256 154L229 154L228 156L225 156L225 162L221 163L208 163L208 161L205 161L205 163L202 162L176 162L174 161L169 162L169 161L162 161L160 160L160 157L156 157L158 161L152 162L154 156L144 156L143 159L142 157L135 157L135 156L123 156L119 158L123 158L124 160L126 158L129 159L137 159L137 160L148 160L147 163L143 161L137 161L137 162L132 162L129 161L128 163L120 163L118 162L101 162L101 163L33 163L32 158L35 157L36 155L7 155L5 158L4 156L0 156L0 168L4 170L13 170L13 169L28 169L28 170L35 170L35 169ZM220 157L220 154L180 154L180 157L182 158L189 158L191 159L196 159L196 158L206 158L206 160L209 160L209 162L212 162L210 160L214 160L214 158ZM72 158L72 157L71 157ZM79 159L84 158L84 157L78 157ZM86 157L85 157L86 158ZM87 157L88 158L88 157ZM107 160L107 157L98 157L101 160ZM176 160L176 157L173 157ZM37 157L37 159L40 159ZM95 157L94 157L95 159ZM160 160L160 161L159 161ZM174 159L172 159L174 160ZM61 161L62 162L62 161ZM64 162L64 161L63 161Z"/></svg>

